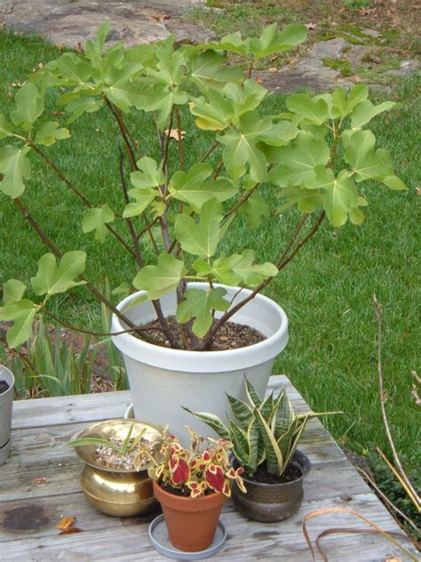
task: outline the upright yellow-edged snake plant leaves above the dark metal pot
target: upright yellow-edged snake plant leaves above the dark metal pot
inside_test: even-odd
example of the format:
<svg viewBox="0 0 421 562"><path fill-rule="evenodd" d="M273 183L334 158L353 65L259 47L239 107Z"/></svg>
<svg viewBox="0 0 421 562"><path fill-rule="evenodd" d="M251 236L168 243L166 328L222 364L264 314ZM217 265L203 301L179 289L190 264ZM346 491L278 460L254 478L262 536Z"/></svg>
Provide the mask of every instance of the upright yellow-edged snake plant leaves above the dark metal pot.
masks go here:
<svg viewBox="0 0 421 562"><path fill-rule="evenodd" d="M193 413L207 423L221 438L232 441L233 453L248 476L265 465L266 472L282 476L296 452L309 419L328 413L296 413L285 389L274 398L272 392L262 400L250 381L245 378L245 389L250 404L226 395L233 418L229 425L213 413Z"/></svg>

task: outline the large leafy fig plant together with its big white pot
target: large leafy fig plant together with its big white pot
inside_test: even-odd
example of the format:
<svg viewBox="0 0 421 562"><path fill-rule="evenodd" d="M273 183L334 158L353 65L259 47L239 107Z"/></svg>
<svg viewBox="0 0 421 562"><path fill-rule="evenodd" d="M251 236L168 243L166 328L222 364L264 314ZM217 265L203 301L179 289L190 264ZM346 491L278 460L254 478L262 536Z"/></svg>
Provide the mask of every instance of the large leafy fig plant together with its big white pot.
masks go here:
<svg viewBox="0 0 421 562"><path fill-rule="evenodd" d="M363 181L405 189L366 128L394 104L373 105L367 86L358 84L349 92L293 94L287 112L269 110L269 93L253 79L253 69L302 43L301 25L278 30L274 24L259 37L232 34L179 48L174 37L106 48L108 30L102 26L83 52L65 52L29 76L10 115L0 116L0 190L49 249L30 287L16 279L4 284L0 318L13 322L7 338L16 347L36 315L63 324L52 297L84 285L113 313L113 341L123 353L135 415L165 420L177 432L188 421L179 408L188 397L219 416L226 411L225 391L245 398L243 373L263 395L274 357L287 344L288 321L261 292L323 221L335 229L348 220L360 224L368 205L359 189ZM232 53L241 66L226 64ZM69 124L96 111L115 120L124 148L115 155L118 203L115 189L107 189L107 198L103 189L89 195L77 185L77 162L65 170L49 156L49 148L71 134L45 115L50 90ZM155 130L155 146L150 137L142 144L140 132L131 130L136 115L145 130ZM203 153L196 156L200 143ZM111 155L114 139L109 146ZM99 244L115 237L134 264L133 275L122 271L113 294L131 293L131 287L138 293L115 304L86 276L86 253L63 253L31 213L31 197L39 197L35 189L25 191L32 158L44 161L78 199L83 232ZM259 261L245 241L287 207L298 208L297 227L271 261ZM244 225L250 236L230 248L228 233ZM114 268L113 256L105 257Z"/></svg>

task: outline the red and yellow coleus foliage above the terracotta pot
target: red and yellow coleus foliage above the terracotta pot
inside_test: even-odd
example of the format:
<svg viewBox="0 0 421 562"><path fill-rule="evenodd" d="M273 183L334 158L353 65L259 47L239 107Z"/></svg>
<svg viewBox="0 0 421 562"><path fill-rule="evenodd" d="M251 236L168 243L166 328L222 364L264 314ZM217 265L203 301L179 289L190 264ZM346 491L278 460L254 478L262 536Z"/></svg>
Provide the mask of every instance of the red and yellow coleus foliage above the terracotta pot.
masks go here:
<svg viewBox="0 0 421 562"><path fill-rule="evenodd" d="M155 464L148 469L149 476L169 492L177 490L192 498L212 492L229 497L234 480L245 493L241 477L243 469L234 470L228 457L233 444L223 438L205 439L188 427L187 431L190 435L189 448L181 446L179 439L167 428L159 454L150 454L145 449L145 454Z"/></svg>

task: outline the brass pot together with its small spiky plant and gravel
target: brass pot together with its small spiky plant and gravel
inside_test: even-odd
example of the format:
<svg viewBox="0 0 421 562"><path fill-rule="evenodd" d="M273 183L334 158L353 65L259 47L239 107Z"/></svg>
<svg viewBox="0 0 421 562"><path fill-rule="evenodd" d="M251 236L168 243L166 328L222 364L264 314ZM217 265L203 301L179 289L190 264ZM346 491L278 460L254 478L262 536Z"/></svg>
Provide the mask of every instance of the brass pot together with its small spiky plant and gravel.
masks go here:
<svg viewBox="0 0 421 562"><path fill-rule="evenodd" d="M161 428L139 420L106 420L78 434L68 446L74 446L85 463L81 486L87 501L117 517L154 510L148 455L154 454L161 440Z"/></svg>

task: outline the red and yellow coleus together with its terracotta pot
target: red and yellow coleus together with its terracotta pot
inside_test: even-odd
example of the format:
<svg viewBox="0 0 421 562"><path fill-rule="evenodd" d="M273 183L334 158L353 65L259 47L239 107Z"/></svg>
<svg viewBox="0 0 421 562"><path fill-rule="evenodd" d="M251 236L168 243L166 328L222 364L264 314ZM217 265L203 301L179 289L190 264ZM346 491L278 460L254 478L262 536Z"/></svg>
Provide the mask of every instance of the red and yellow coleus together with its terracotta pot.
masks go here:
<svg viewBox="0 0 421 562"><path fill-rule="evenodd" d="M163 508L171 544L179 550L198 552L213 542L219 514L235 481L245 493L242 468L231 466L225 439L204 439L187 427L190 446L167 431L160 457L151 457L148 470L154 492Z"/></svg>

